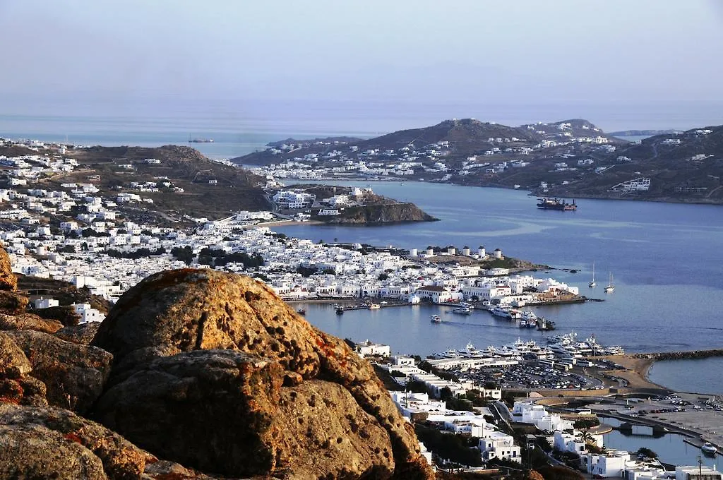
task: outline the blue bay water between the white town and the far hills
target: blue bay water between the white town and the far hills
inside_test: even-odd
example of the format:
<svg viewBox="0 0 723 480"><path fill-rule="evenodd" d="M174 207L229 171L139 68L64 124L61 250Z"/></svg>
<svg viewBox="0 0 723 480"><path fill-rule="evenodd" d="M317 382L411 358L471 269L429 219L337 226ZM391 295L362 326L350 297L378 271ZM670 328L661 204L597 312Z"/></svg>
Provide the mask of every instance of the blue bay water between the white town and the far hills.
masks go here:
<svg viewBox="0 0 723 480"><path fill-rule="evenodd" d="M508 189L460 187L424 182L329 183L370 184L375 192L416 203L438 222L393 226L318 226L275 228L313 241L361 242L404 249L428 245L488 250L554 267L536 273L581 289L599 303L536 307L557 322L557 330L596 335L604 345L626 351L684 351L723 345L723 208L656 202L578 200L576 212L539 210L534 197ZM598 286L588 288L595 262ZM615 291L602 287L614 275ZM429 315L442 314L432 325ZM529 332L495 320L487 312L460 319L444 307L399 307L376 312L347 312L309 306L307 318L323 330L354 340L389 343L393 350L426 355L461 348L523 340L544 341Z"/></svg>

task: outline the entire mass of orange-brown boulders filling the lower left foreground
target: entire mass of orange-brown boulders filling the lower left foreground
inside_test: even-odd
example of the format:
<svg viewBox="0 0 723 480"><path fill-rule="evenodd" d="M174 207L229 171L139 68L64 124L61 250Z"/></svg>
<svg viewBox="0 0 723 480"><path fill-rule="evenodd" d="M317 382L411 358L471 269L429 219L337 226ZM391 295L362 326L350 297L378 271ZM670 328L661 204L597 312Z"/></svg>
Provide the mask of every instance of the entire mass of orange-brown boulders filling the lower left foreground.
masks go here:
<svg viewBox="0 0 723 480"><path fill-rule="evenodd" d="M367 361L262 283L158 273L100 327L16 288L0 249L0 478L433 478Z"/></svg>

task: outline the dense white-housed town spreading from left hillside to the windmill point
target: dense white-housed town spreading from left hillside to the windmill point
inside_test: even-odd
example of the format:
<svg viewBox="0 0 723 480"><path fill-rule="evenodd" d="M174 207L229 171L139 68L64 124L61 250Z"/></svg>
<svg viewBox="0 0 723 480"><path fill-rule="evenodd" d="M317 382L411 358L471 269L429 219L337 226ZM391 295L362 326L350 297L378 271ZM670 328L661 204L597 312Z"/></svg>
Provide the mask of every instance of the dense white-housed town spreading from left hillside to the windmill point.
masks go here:
<svg viewBox="0 0 723 480"><path fill-rule="evenodd" d="M34 145L42 149L41 145ZM42 150L38 150L41 153ZM157 163L158 159L140 160ZM115 301L152 273L187 265L206 265L245 272L269 283L285 299L395 299L448 302L493 299L500 303L554 301L576 296L574 287L531 275L511 275L501 249L432 247L411 252L375 249L360 244L315 244L289 239L255 223L273 220L270 211L235 213L220 220L189 218L187 227L129 220L127 206L153 205L155 187L130 182L137 193L100 192L91 183L59 183L39 188L43 179L73 173L79 164L54 155L0 158L8 187L0 189L0 240L25 275L65 280L77 288ZM138 183L133 187L132 184ZM172 187L172 185L171 185ZM178 187L174 187L178 188ZM276 194L286 202L296 194ZM369 189L352 194L369 195ZM330 207L346 204L331 197ZM301 219L303 220L303 219ZM472 260L455 265L455 258ZM448 262L430 260L445 259ZM127 259L127 260L124 260ZM142 259L142 262L133 261ZM486 263L487 262L487 263ZM494 266L490 262L494 263ZM501 262L501 263L500 263ZM468 262L469 263L469 262ZM500 265L502 267L500 267ZM48 299L38 306L49 306ZM98 320L88 312L85 320Z"/></svg>

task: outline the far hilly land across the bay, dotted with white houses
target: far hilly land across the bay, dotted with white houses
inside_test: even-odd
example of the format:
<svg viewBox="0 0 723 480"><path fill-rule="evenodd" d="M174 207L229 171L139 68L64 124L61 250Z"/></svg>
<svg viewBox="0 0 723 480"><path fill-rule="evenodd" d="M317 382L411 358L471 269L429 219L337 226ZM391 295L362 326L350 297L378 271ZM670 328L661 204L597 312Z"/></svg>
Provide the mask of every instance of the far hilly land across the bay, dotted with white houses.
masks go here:
<svg viewBox="0 0 723 480"><path fill-rule="evenodd" d="M629 142L619 138L649 138ZM723 203L723 127L606 133L570 119L508 127L445 120L371 139L287 139L231 159L287 179L399 179L544 197Z"/></svg>

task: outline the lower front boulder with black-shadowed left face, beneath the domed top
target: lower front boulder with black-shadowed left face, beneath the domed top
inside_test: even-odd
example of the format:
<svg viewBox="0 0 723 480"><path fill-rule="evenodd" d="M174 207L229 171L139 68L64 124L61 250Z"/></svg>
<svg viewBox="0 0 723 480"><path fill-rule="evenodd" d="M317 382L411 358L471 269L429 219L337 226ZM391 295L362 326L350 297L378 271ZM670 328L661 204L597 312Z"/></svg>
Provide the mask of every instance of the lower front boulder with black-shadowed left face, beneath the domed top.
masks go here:
<svg viewBox="0 0 723 480"><path fill-rule="evenodd" d="M340 385L282 387L276 361L228 350L156 359L112 387L96 418L162 458L231 476L388 479L388 434Z"/></svg>

